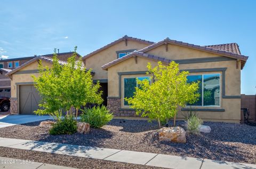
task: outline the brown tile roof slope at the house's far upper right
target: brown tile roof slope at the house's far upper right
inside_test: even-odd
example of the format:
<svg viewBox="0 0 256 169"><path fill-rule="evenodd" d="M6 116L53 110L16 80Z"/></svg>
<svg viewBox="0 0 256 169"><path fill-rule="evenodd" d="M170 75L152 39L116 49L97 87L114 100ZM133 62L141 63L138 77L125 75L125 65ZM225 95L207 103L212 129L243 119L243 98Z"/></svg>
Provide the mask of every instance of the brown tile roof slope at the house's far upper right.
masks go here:
<svg viewBox="0 0 256 169"><path fill-rule="evenodd" d="M227 43L227 44L219 44L219 45L206 45L205 47L210 47L212 49L217 49L221 51L227 51L231 53L240 54L239 46L237 43Z"/></svg>

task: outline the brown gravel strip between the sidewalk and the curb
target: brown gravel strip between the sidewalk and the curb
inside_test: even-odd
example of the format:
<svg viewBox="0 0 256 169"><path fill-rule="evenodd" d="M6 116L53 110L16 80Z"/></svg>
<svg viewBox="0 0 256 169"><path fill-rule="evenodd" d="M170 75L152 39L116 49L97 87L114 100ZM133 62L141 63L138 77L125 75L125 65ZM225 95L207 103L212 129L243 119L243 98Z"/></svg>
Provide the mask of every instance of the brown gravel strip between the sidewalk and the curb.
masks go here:
<svg viewBox="0 0 256 169"><path fill-rule="evenodd" d="M74 168L86 168L86 169L90 169L90 168L138 168L138 169L159 168L161 169L160 167L111 162L108 160L57 155L57 154L51 154L47 152L21 150L21 149L13 149L13 148L5 148L5 147L0 147L0 156L17 158L17 159L28 159L28 160L34 160L35 162L39 162L39 163L47 163L47 164L61 165L61 166L74 167Z"/></svg>

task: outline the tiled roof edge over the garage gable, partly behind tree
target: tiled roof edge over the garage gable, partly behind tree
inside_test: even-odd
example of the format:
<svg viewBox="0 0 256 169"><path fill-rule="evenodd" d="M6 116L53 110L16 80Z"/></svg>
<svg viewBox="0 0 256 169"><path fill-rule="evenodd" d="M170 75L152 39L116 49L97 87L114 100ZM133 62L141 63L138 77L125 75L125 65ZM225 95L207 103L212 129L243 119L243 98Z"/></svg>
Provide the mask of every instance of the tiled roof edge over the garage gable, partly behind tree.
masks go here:
<svg viewBox="0 0 256 169"><path fill-rule="evenodd" d="M31 59L31 60L23 63L21 66L15 68L15 69L12 69L8 73L6 73L5 76L10 76L10 75L14 74L16 71L18 71L18 70L22 69L23 67L26 67L30 63L33 63L33 62L38 61L38 60L44 60L46 62L53 63L53 59L52 58L45 57L45 56L38 56L38 57L35 57L34 59ZM59 62L60 65L66 65L68 63L68 62L63 61L63 60L58 60L58 62ZM82 68L84 68L84 64L82 65ZM92 74L93 74L93 71L92 71Z"/></svg>

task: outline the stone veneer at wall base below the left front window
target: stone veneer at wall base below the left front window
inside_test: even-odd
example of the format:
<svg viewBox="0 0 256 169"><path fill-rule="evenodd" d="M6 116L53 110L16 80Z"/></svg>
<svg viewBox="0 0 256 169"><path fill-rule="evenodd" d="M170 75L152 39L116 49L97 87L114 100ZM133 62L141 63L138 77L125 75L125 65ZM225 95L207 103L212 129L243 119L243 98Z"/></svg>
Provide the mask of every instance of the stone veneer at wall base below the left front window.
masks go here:
<svg viewBox="0 0 256 169"><path fill-rule="evenodd" d="M121 99L120 98L108 98L107 107L110 112L113 112L115 117L140 117L135 114L134 110L121 109Z"/></svg>

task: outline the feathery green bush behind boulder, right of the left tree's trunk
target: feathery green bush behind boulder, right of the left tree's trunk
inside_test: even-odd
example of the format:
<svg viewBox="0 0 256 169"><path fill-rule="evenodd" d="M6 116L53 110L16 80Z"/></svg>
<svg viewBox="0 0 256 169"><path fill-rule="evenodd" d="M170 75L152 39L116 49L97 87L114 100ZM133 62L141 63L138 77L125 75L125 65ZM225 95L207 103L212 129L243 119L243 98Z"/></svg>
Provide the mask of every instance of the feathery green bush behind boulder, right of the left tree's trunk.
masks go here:
<svg viewBox="0 0 256 169"><path fill-rule="evenodd" d="M89 123L93 128L100 128L113 118L106 106L85 108L82 112L81 122Z"/></svg>

